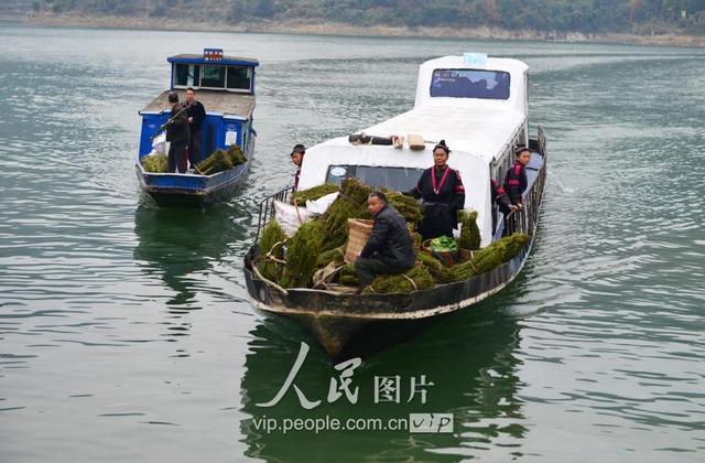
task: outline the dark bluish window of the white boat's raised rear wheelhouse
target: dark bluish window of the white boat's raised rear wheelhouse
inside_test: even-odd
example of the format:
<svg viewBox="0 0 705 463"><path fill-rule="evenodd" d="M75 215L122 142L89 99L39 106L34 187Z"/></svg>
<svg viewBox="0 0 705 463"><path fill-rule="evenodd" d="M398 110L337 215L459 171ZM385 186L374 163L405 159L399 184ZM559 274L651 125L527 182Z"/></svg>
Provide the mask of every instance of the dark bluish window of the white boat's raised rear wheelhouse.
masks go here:
<svg viewBox="0 0 705 463"><path fill-rule="evenodd" d="M509 98L509 73L480 69L434 69L432 97Z"/></svg>

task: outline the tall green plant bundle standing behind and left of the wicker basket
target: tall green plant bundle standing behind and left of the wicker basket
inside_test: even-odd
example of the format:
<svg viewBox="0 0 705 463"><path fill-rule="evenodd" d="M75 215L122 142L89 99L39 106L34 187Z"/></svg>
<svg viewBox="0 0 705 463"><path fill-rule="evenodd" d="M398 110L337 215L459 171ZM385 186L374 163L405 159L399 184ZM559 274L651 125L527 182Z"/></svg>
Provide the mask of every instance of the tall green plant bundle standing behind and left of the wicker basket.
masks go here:
<svg viewBox="0 0 705 463"><path fill-rule="evenodd" d="M348 218L372 218L367 212L367 196L371 189L356 179L345 179L340 194L325 214L327 239L325 250L345 245L348 239Z"/></svg>

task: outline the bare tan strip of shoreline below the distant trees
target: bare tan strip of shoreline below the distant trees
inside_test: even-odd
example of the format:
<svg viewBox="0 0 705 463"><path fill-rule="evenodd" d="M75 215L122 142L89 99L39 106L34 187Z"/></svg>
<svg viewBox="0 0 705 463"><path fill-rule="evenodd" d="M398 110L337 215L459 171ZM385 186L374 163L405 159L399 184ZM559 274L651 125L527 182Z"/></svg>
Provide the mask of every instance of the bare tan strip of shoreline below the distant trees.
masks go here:
<svg viewBox="0 0 705 463"><path fill-rule="evenodd" d="M56 28L106 28L158 31L182 31L184 20L127 17L91 17L75 14L34 14L22 21L29 25ZM544 31L509 31L498 28L386 28L359 26L333 22L306 23L302 21L257 21L248 24L189 22L188 31L289 33L302 35L352 35L390 37L434 37L470 40L555 41L571 43L617 43L634 45L705 47L705 36L684 34L637 35L621 33L585 34Z"/></svg>

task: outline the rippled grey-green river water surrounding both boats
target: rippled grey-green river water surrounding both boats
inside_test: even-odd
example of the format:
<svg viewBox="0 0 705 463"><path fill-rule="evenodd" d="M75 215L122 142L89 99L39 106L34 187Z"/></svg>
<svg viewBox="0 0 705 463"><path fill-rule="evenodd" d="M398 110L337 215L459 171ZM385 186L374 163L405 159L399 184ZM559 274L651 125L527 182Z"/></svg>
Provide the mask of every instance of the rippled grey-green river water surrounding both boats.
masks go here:
<svg viewBox="0 0 705 463"><path fill-rule="evenodd" d="M0 39L0 461L705 459L702 50L12 24ZM159 209L133 172L137 111L169 85L166 56L207 46L261 62L252 170L229 204ZM339 372L321 348L247 301L256 200L291 182L294 143L410 109L419 64L465 51L531 69L550 151L532 257L497 297L364 360L355 403L329 400ZM321 405L292 389L258 407L302 341L295 385ZM376 377L399 377L400 399L375 403ZM413 412L453 413L453 432L261 426Z"/></svg>

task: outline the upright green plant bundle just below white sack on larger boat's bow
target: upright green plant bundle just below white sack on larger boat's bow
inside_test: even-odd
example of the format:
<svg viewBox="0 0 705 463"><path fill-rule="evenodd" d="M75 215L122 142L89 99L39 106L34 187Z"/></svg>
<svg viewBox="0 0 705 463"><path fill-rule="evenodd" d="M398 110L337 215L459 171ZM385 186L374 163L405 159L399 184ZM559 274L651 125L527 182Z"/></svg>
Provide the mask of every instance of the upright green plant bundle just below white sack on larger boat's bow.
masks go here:
<svg viewBox="0 0 705 463"><path fill-rule="evenodd" d="M316 261L326 236L322 220L304 223L289 241L286 266L281 278L284 288L311 288Z"/></svg>

